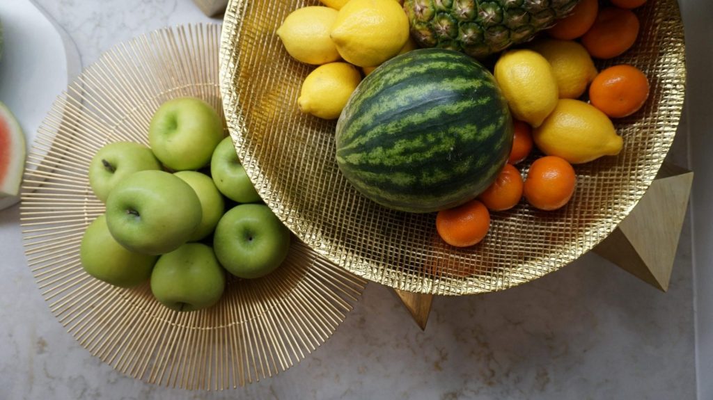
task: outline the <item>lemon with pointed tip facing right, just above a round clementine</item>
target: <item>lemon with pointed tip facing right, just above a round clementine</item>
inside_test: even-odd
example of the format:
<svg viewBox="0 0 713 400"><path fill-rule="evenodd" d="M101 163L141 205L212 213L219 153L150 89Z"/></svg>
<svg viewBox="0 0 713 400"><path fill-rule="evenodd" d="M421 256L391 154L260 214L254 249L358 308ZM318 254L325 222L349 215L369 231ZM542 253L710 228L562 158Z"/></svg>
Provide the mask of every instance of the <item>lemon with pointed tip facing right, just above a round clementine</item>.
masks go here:
<svg viewBox="0 0 713 400"><path fill-rule="evenodd" d="M602 156L614 156L622 149L622 137L612 121L593 105L561 99L540 127L533 140L545 154L583 164Z"/></svg>

